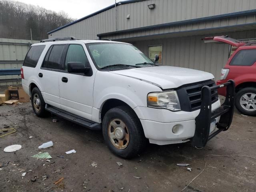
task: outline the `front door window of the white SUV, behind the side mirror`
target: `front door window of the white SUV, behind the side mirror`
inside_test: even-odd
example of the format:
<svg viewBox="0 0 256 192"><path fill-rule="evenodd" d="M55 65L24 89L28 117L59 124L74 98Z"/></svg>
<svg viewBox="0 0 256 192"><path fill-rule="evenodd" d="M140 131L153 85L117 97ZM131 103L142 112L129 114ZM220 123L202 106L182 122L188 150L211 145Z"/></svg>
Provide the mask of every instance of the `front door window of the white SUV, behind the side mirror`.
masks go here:
<svg viewBox="0 0 256 192"><path fill-rule="evenodd" d="M65 61L65 70L68 70L68 62L80 62L86 66L88 59L84 52L84 48L81 45L70 44Z"/></svg>

